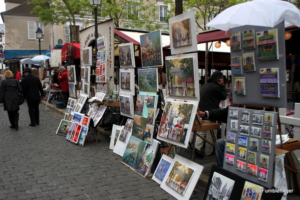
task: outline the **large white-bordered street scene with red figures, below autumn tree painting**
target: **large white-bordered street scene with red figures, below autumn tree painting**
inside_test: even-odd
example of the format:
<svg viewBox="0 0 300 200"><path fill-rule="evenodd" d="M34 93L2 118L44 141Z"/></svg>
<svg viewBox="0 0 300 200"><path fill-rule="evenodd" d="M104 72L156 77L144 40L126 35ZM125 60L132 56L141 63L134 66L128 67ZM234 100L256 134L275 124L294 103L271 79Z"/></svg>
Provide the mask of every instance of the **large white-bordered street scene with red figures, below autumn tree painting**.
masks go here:
<svg viewBox="0 0 300 200"><path fill-rule="evenodd" d="M157 139L187 148L198 103L167 98Z"/></svg>

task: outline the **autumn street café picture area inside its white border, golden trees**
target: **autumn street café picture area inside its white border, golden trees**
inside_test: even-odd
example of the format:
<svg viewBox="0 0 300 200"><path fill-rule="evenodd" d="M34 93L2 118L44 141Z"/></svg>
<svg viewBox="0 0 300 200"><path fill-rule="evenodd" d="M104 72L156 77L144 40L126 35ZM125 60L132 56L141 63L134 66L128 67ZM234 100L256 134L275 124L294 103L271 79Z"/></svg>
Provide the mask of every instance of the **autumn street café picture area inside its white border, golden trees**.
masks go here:
<svg viewBox="0 0 300 200"><path fill-rule="evenodd" d="M174 56L166 57L168 94L196 97L194 58L172 58Z"/></svg>

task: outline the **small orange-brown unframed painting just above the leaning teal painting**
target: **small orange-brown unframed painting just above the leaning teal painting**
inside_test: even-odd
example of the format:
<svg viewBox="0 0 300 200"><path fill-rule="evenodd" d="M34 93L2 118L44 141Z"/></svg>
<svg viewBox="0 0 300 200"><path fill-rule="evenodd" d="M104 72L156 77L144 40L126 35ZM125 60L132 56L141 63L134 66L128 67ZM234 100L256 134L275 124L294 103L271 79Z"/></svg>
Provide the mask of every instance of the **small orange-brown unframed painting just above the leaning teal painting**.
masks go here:
<svg viewBox="0 0 300 200"><path fill-rule="evenodd" d="M136 137L136 138L144 141L145 140L146 125L147 125L147 118L146 117L134 115L131 135L133 137Z"/></svg>

